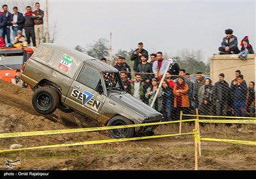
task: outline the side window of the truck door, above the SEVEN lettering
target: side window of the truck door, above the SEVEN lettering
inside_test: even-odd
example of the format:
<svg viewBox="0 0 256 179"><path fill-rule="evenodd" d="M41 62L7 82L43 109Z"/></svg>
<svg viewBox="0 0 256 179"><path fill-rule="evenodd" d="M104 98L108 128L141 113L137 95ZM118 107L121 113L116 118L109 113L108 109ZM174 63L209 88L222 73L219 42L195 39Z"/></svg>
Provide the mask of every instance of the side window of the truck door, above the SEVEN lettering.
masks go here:
<svg viewBox="0 0 256 179"><path fill-rule="evenodd" d="M100 81L100 74L99 72L93 70L92 68L88 68L88 66L84 66L77 81L81 82L82 84L92 89L96 89Z"/></svg>

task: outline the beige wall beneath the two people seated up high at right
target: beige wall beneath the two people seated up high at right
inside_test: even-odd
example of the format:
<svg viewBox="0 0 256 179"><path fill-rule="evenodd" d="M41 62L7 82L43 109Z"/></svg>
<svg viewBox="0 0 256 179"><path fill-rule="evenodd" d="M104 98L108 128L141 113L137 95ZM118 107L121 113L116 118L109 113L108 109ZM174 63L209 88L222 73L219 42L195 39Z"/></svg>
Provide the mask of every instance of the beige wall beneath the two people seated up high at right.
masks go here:
<svg viewBox="0 0 256 179"><path fill-rule="evenodd" d="M214 55L211 59L211 79L212 84L218 81L218 75L225 74L225 81L230 82L235 79L236 70L241 70L244 80L256 82L256 55L249 54L247 59L239 59L237 54Z"/></svg>

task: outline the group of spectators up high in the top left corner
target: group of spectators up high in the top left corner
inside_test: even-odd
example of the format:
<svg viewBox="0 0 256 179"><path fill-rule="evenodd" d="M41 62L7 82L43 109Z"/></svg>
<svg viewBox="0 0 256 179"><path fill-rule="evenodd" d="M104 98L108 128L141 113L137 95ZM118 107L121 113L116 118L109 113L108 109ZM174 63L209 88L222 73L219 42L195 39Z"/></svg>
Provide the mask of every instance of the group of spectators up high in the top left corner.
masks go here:
<svg viewBox="0 0 256 179"><path fill-rule="evenodd" d="M44 42L44 11L40 9L40 3L35 3L34 11L31 6L26 6L24 14L19 12L17 6L13 7L13 13L8 11L7 4L3 4L2 8L3 12L0 12L2 47L38 47Z"/></svg>

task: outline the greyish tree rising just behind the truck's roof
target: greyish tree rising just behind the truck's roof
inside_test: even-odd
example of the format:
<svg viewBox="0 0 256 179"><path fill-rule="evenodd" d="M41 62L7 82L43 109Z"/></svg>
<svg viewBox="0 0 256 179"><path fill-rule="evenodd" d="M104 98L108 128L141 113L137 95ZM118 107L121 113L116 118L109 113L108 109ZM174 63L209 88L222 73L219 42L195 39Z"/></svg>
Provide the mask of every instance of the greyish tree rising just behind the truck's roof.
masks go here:
<svg viewBox="0 0 256 179"><path fill-rule="evenodd" d="M98 41L86 45L86 53L93 58L101 59L102 57L109 56L109 41L106 38L100 38Z"/></svg>

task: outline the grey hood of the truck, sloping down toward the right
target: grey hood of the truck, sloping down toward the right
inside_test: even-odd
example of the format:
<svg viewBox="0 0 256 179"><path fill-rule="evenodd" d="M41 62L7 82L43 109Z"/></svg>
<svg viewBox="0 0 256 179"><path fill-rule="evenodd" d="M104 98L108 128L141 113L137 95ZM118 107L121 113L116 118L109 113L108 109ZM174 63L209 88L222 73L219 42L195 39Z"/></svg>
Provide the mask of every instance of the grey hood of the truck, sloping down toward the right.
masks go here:
<svg viewBox="0 0 256 179"><path fill-rule="evenodd" d="M161 118L163 114L159 113L149 105L141 102L137 98L134 98L129 93L111 95L110 98L116 102L116 104L122 105L125 109L131 109L132 112L138 113L144 118ZM129 113L129 111L127 111Z"/></svg>

